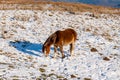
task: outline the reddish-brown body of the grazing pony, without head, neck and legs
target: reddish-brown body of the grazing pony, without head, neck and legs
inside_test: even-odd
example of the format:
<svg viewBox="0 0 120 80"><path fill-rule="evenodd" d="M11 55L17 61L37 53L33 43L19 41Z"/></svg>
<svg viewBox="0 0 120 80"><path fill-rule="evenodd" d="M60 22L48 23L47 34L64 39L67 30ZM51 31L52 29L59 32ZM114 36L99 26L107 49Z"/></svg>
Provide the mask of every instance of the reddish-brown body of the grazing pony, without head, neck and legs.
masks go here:
<svg viewBox="0 0 120 80"><path fill-rule="evenodd" d="M63 31L56 31L54 34L56 34L55 44L62 44L67 45L69 43L75 42L77 39L77 33L73 29L65 29Z"/></svg>

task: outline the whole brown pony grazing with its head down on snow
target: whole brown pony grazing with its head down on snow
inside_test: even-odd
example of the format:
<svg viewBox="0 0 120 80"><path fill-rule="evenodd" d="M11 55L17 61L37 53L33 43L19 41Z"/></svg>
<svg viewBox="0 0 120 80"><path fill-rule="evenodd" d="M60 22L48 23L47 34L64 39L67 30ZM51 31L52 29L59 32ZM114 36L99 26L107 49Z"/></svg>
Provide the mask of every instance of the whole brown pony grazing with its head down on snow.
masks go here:
<svg viewBox="0 0 120 80"><path fill-rule="evenodd" d="M64 31L56 31L52 35L48 37L48 39L43 44L42 51L45 53L45 56L48 56L50 52L50 46L54 45L54 52L56 57L57 48L60 48L60 52L62 53L62 58L64 58L63 54L63 46L70 44L70 53L73 55L74 53L74 43L77 39L77 33L73 29L65 29Z"/></svg>

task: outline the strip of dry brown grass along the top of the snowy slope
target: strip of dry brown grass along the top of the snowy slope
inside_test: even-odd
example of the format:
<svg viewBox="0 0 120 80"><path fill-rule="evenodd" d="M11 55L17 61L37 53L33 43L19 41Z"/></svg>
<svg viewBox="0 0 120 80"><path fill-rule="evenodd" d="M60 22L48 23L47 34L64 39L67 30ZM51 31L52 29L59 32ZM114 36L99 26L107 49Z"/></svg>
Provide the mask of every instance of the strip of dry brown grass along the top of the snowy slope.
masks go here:
<svg viewBox="0 0 120 80"><path fill-rule="evenodd" d="M78 3L65 3L65 2L50 2L34 1L34 0L0 0L0 10L59 10L69 12L93 12L107 13L107 14L120 14L119 8L102 7L88 4Z"/></svg>

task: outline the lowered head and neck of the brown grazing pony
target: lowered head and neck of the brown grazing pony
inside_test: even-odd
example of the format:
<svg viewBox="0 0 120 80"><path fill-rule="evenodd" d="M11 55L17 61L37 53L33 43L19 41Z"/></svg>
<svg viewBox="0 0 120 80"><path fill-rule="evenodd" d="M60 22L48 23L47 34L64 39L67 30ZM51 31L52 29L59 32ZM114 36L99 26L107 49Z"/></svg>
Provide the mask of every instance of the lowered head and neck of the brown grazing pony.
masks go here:
<svg viewBox="0 0 120 80"><path fill-rule="evenodd" d="M42 47L42 52L45 54L47 57L50 52L50 46L55 43L56 40L56 34L52 34L44 43Z"/></svg>

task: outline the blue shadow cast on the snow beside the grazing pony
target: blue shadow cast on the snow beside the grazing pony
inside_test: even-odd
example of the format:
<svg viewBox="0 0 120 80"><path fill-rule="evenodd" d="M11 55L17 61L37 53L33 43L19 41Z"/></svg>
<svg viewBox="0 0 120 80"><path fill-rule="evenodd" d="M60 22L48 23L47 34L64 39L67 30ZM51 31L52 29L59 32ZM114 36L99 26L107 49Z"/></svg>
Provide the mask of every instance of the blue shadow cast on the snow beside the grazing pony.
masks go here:
<svg viewBox="0 0 120 80"><path fill-rule="evenodd" d="M34 56L40 56L40 54L37 53L42 53L42 46L43 46L43 44L31 43L28 41L16 41L16 42L10 41L9 45L13 46L19 51Z"/></svg>

